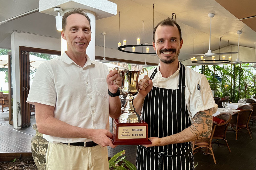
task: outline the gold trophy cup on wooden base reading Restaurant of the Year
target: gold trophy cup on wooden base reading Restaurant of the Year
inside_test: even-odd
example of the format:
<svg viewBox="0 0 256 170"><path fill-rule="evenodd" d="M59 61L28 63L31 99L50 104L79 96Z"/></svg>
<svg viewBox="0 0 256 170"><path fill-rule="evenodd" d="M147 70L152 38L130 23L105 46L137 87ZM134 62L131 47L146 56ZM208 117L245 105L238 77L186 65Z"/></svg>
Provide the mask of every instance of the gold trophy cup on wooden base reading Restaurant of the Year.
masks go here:
<svg viewBox="0 0 256 170"><path fill-rule="evenodd" d="M133 106L133 99L138 94L138 77L144 73L146 68L140 71L120 71L118 67L114 68L122 77L122 85L118 88L126 96L124 111L119 119L113 121L113 145L150 145L148 140L148 124L140 119Z"/></svg>

